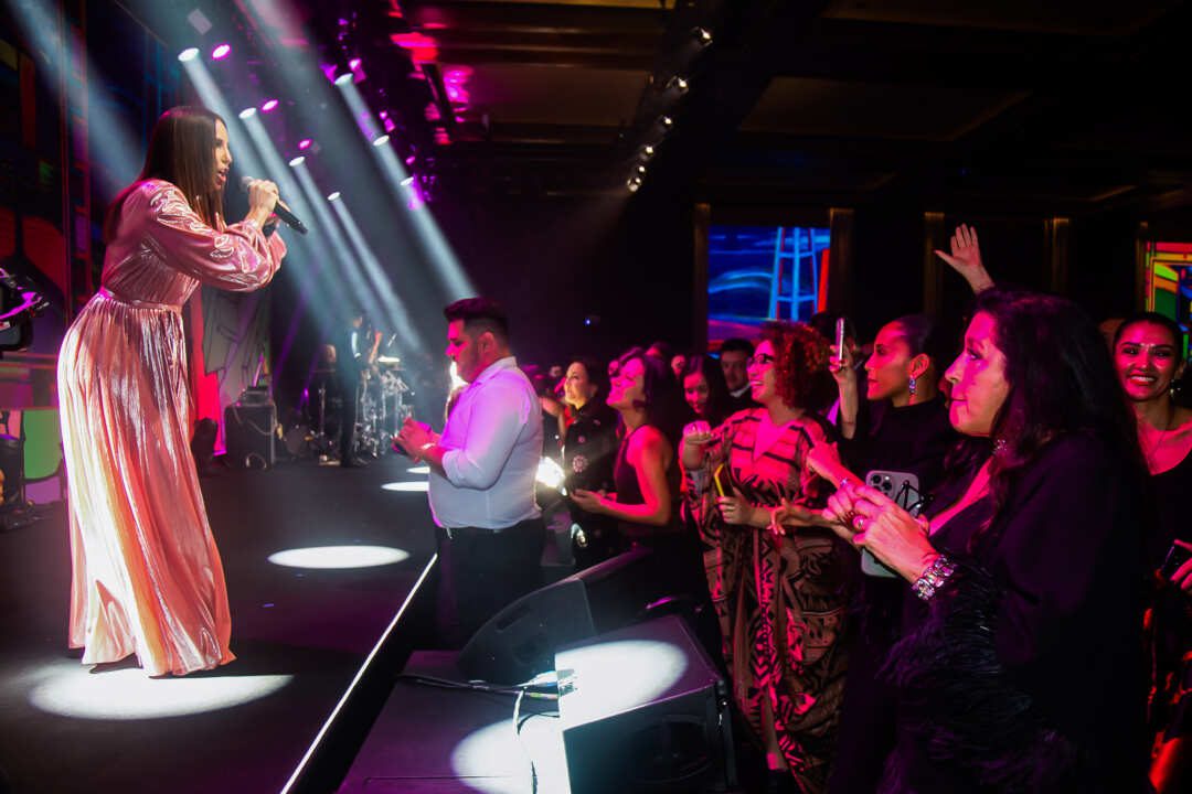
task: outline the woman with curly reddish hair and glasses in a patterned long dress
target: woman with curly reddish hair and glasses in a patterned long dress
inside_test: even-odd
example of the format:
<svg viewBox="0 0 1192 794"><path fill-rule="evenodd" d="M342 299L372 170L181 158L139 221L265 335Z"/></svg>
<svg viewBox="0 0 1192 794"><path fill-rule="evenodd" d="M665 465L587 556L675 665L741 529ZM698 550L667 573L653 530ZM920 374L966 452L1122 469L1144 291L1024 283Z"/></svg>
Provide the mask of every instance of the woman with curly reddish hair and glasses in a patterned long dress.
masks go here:
<svg viewBox="0 0 1192 794"><path fill-rule="evenodd" d="M825 790L844 690L839 640L856 557L825 526L771 530L784 500L813 524L827 495L806 462L831 433L807 408L827 356L811 326L768 323L749 360L760 407L714 431L688 425L681 448L733 696L778 790Z"/></svg>

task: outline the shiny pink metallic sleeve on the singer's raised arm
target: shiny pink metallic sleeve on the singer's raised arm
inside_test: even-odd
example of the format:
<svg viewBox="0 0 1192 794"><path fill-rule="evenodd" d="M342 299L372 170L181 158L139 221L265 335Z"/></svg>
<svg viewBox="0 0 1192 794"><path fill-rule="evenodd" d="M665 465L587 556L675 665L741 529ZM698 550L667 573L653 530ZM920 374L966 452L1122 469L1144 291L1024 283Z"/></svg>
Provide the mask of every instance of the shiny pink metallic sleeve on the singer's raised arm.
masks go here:
<svg viewBox="0 0 1192 794"><path fill-rule="evenodd" d="M142 212L132 206L138 201L145 202ZM277 235L267 239L254 223L212 229L169 182L145 182L128 205L126 214L144 219L145 238L162 260L205 285L232 292L259 289L269 283L285 256L285 243Z"/></svg>

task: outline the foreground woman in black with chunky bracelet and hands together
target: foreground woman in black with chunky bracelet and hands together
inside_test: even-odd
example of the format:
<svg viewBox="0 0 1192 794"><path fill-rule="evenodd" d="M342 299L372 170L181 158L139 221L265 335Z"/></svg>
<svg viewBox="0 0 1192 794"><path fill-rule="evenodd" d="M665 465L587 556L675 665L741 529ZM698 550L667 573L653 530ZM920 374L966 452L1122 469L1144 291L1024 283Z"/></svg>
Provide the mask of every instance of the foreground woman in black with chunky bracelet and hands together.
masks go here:
<svg viewBox="0 0 1192 794"><path fill-rule="evenodd" d="M1069 301L987 289L946 377L974 457L927 515L848 482L825 512L918 596L877 790L1143 790L1144 474L1104 342Z"/></svg>

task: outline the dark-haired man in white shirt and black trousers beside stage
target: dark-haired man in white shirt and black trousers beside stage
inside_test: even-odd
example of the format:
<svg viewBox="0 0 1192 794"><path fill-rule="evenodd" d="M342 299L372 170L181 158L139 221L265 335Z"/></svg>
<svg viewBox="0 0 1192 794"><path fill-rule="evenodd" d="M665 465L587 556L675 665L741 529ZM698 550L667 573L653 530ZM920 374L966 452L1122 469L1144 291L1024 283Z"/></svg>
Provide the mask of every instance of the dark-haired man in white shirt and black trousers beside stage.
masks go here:
<svg viewBox="0 0 1192 794"><path fill-rule="evenodd" d="M539 586L545 529L534 501L542 419L529 379L509 349L509 320L493 301L448 306L447 356L468 383L442 436L408 419L396 443L430 467L439 526L440 640L462 645L485 620Z"/></svg>

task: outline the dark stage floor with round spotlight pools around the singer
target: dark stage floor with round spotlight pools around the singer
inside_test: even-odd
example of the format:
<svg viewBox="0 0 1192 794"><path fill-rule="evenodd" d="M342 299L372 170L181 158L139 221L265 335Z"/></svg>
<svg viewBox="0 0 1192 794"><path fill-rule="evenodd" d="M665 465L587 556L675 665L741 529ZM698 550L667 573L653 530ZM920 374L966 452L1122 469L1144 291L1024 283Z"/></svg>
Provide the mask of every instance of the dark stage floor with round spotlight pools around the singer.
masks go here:
<svg viewBox="0 0 1192 794"><path fill-rule="evenodd" d="M426 481L409 467L391 455L365 469L304 461L205 479L238 658L184 679L91 673L67 650L62 506L0 533L0 767L12 790L280 790L434 550L426 494L383 488ZM409 557L327 570L268 559L310 546Z"/></svg>

